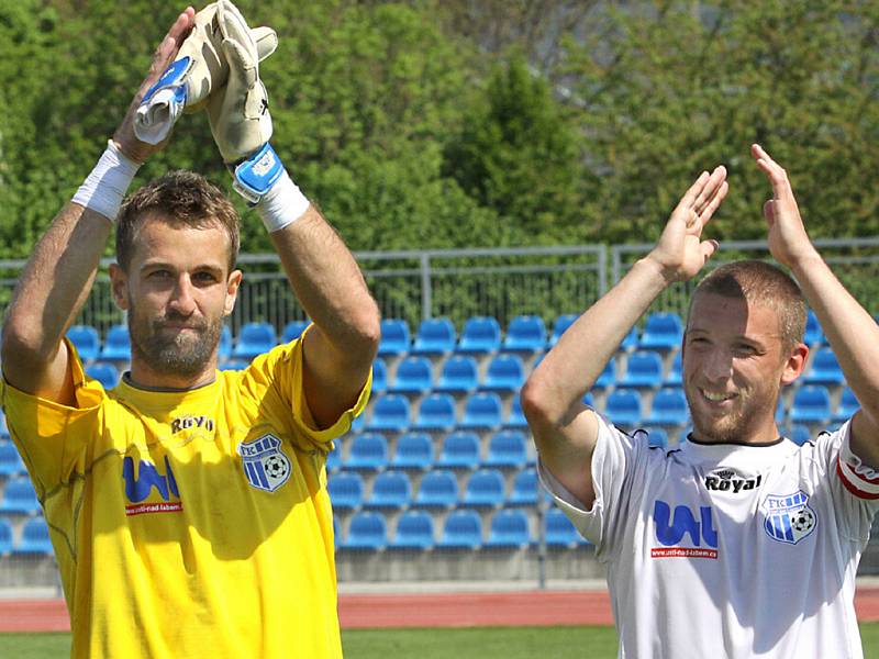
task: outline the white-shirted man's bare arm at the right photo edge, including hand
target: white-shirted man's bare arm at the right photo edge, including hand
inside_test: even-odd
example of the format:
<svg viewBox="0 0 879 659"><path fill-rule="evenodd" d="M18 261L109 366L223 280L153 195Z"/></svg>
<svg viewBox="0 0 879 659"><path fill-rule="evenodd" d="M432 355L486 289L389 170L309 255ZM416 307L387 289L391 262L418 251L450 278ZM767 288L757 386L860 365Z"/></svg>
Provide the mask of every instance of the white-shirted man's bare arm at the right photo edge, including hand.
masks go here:
<svg viewBox="0 0 879 659"><path fill-rule="evenodd" d="M860 403L852 422L852 450L879 468L879 326L812 245L787 172L759 145L752 154L772 185L772 199L764 205L769 250L797 277Z"/></svg>

